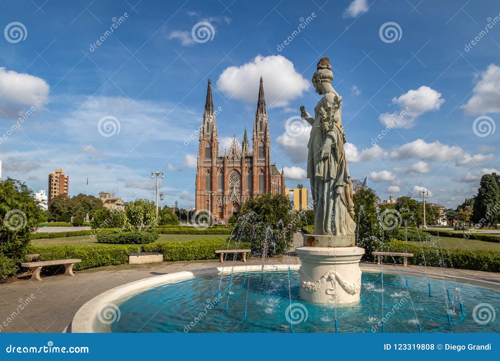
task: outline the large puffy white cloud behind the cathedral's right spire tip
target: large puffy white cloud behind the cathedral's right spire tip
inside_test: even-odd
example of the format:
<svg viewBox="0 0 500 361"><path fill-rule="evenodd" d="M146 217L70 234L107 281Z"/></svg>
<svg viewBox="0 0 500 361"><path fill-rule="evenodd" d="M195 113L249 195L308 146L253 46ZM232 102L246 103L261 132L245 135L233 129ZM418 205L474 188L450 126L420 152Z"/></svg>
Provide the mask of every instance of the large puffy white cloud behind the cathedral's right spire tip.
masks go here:
<svg viewBox="0 0 500 361"><path fill-rule="evenodd" d="M260 76L264 80L268 108L288 106L310 86L284 56L257 55L246 64L225 68L217 79L217 89L228 97L255 103Z"/></svg>

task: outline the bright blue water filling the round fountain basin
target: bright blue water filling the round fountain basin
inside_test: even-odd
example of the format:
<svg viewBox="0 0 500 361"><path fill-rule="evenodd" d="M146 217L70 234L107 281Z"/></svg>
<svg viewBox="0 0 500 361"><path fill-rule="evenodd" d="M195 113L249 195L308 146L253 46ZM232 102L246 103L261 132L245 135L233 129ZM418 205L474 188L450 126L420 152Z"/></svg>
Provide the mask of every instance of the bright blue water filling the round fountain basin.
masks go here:
<svg viewBox="0 0 500 361"><path fill-rule="evenodd" d="M246 272L155 287L119 306L111 332L290 332L292 327L293 332L334 333L337 326L338 332L378 333L382 324L385 332L418 332L418 324L422 332L500 332L499 318L481 325L472 312L480 303L498 309L498 291L460 284L457 296L455 282L383 274L382 284L380 274L363 273L360 302L338 306L335 316L334 304L301 301L298 278L297 271Z"/></svg>

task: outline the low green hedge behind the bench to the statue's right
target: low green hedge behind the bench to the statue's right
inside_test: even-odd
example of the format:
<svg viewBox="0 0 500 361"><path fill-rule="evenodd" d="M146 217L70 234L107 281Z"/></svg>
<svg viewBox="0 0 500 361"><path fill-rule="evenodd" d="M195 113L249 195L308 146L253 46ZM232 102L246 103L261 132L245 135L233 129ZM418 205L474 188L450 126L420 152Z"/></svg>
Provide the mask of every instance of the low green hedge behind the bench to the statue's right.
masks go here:
<svg viewBox="0 0 500 361"><path fill-rule="evenodd" d="M392 240L375 246L377 251L413 253L410 265L500 272L500 253L490 250L448 250ZM375 257L375 256L372 256ZM425 261L424 261L425 258ZM402 257L383 256L386 262L402 263Z"/></svg>

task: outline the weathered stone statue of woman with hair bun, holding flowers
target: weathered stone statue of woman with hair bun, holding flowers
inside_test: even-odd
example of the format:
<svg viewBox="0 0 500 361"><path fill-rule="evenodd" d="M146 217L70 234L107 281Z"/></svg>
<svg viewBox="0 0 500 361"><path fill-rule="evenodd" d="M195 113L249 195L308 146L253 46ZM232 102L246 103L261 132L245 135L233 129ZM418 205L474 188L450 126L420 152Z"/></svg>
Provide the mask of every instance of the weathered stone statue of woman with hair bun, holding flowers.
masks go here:
<svg viewBox="0 0 500 361"><path fill-rule="evenodd" d="M316 93L322 95L314 117L300 107L300 117L311 126L307 144L307 178L314 207L314 235L354 235L354 194L345 160L345 133L342 127L342 97L331 86L330 60L323 57L312 76Z"/></svg>

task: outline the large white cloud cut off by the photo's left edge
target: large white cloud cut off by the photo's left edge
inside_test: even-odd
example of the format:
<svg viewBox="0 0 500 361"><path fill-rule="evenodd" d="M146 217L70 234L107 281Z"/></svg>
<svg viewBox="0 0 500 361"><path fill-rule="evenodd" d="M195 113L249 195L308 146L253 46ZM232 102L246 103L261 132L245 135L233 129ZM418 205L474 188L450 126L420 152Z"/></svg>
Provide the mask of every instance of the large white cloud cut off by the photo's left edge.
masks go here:
<svg viewBox="0 0 500 361"><path fill-rule="evenodd" d="M41 111L48 103L49 89L42 78L0 67L0 117L18 118L19 111L25 112L31 106Z"/></svg>

